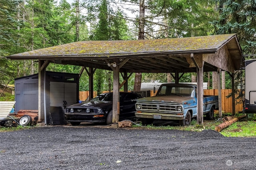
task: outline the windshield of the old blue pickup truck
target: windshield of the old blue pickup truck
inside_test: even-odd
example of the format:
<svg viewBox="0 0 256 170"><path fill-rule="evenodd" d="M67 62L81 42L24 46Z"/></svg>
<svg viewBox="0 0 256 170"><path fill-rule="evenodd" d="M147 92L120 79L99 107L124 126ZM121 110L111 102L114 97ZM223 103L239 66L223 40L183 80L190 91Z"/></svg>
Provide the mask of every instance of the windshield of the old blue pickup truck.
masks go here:
<svg viewBox="0 0 256 170"><path fill-rule="evenodd" d="M158 96L191 96L194 97L194 87L162 86L158 90Z"/></svg>

